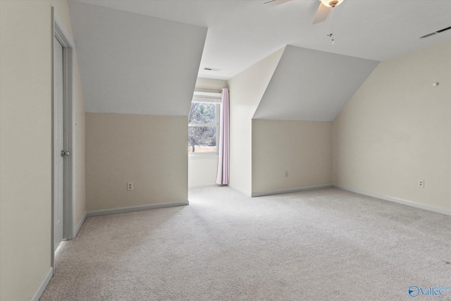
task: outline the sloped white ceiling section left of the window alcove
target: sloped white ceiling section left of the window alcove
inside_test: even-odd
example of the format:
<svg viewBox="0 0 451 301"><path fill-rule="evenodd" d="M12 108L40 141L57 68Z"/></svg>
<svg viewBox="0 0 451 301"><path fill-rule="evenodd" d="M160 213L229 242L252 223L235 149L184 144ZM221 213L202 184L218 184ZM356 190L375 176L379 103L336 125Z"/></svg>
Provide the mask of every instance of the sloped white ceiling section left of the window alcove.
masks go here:
<svg viewBox="0 0 451 301"><path fill-rule="evenodd" d="M68 2L87 112L188 114L206 27Z"/></svg>

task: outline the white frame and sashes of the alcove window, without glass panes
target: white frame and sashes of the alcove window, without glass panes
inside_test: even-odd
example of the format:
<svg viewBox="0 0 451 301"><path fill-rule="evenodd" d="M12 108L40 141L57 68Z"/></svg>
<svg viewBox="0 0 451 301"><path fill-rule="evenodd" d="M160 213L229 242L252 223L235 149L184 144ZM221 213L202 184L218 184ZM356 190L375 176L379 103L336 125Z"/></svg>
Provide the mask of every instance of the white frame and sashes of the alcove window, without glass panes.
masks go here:
<svg viewBox="0 0 451 301"><path fill-rule="evenodd" d="M216 105L216 124L192 124L188 123L188 130L192 127L202 128L202 127L214 127L216 128L216 152L188 152L189 157L211 157L218 156L218 140L219 140L219 122L220 122L220 113L221 113L221 92L200 92L195 91L191 103L200 102L207 104L215 104ZM191 104L190 104L191 106ZM189 118L189 116L188 116ZM189 136L188 136L189 137ZM190 147L190 145L188 145Z"/></svg>

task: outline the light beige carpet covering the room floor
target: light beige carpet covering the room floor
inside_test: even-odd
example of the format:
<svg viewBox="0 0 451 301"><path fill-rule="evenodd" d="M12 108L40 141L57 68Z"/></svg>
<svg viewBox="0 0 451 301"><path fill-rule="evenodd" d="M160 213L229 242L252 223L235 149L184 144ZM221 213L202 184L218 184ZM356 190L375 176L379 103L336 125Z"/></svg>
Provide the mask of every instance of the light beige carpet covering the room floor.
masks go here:
<svg viewBox="0 0 451 301"><path fill-rule="evenodd" d="M41 300L412 300L411 285L451 286L451 216L335 188L189 199L88 218Z"/></svg>

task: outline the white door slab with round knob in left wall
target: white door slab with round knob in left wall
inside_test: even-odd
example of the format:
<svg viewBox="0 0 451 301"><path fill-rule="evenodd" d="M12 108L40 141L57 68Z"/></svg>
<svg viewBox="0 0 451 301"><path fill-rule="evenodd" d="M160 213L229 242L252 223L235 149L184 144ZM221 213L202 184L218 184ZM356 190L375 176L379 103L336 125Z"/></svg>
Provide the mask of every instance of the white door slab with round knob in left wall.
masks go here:
<svg viewBox="0 0 451 301"><path fill-rule="evenodd" d="M54 37L54 251L64 238L63 47Z"/></svg>

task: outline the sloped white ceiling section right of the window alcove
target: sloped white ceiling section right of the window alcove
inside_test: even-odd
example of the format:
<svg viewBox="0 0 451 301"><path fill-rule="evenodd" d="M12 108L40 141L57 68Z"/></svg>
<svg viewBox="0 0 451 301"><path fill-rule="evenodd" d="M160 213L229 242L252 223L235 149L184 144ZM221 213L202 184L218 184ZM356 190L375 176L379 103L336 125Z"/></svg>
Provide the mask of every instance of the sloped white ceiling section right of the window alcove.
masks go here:
<svg viewBox="0 0 451 301"><path fill-rule="evenodd" d="M333 121L378 63L288 45L253 118Z"/></svg>

